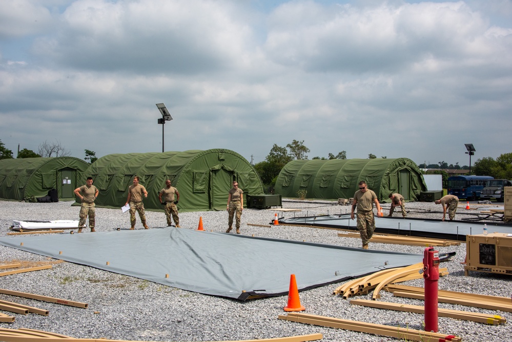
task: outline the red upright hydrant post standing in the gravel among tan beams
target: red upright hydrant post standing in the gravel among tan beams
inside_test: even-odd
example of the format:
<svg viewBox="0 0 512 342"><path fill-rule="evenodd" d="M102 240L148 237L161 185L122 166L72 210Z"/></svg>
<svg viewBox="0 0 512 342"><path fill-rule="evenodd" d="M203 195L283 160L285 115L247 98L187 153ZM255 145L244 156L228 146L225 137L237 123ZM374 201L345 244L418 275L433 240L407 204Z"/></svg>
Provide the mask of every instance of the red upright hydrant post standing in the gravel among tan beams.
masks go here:
<svg viewBox="0 0 512 342"><path fill-rule="evenodd" d="M425 278L425 331L437 332L439 251L435 251L434 247L427 247L423 252L423 278Z"/></svg>

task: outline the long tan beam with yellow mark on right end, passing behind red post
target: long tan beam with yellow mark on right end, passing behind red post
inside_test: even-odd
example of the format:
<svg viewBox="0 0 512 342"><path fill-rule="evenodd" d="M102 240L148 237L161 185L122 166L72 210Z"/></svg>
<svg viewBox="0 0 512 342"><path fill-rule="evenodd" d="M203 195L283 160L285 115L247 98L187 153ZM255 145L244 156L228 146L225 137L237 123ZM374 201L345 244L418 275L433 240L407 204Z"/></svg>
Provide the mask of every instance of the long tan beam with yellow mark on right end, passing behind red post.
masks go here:
<svg viewBox="0 0 512 342"><path fill-rule="evenodd" d="M425 307L420 305L407 305L407 304L399 304L399 303L390 303L384 301L377 300L367 300L367 299L352 299L350 304L360 305L365 307L377 308L377 309L386 309L386 310L395 310L395 311L405 311L405 312L414 312L414 313L425 313ZM500 323L506 323L506 319L497 315L487 315L481 314L477 312L468 312L468 311L460 311L460 310L451 310L451 309L437 309L438 316L440 317L450 317L462 320L470 320L478 323L484 324L493 324L498 325Z"/></svg>

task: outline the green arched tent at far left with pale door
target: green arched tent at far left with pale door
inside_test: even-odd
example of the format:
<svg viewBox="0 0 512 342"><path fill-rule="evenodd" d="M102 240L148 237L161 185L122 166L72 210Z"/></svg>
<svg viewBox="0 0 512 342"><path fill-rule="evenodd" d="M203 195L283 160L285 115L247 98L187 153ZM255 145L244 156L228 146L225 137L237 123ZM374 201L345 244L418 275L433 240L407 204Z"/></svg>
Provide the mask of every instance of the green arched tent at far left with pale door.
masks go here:
<svg viewBox="0 0 512 342"><path fill-rule="evenodd" d="M75 157L2 159L0 198L43 197L55 188L59 199L73 200L77 180L88 167L88 163Z"/></svg>

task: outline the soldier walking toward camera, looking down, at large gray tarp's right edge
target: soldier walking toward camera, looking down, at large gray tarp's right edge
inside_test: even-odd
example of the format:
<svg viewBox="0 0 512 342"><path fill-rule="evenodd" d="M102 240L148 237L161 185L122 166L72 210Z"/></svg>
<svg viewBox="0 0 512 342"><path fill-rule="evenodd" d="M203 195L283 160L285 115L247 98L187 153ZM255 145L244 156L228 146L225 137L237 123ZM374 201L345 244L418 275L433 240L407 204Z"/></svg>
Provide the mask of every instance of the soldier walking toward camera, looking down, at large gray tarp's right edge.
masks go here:
<svg viewBox="0 0 512 342"><path fill-rule="evenodd" d="M359 190L354 194L352 212L350 217L354 219L354 210L357 206L357 229L361 235L363 249L368 249L368 240L372 238L375 231L375 218L373 217L373 204L377 207L379 216L382 215L377 195L366 187L365 182L359 182Z"/></svg>

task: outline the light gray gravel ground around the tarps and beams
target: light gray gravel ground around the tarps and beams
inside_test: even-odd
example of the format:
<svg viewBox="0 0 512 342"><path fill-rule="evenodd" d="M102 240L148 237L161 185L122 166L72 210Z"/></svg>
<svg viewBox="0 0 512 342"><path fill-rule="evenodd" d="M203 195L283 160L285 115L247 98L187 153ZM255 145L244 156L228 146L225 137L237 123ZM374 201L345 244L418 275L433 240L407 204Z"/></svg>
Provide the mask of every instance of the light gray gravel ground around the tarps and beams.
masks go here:
<svg viewBox="0 0 512 342"><path fill-rule="evenodd" d="M457 219L477 213L477 208L496 205L472 204L472 210L465 210L460 204ZM322 215L350 212L350 206L337 206L334 202L315 203L284 201L284 208L300 208L302 212L279 213L280 217ZM384 208L389 205L384 204ZM440 218L441 206L433 203L408 203L409 217ZM78 219L79 207L70 202L19 203L0 201L0 236L6 236L13 219L56 220ZM384 212L385 209L384 209ZM360 239L338 237L336 230L309 227L256 227L247 224L267 225L274 219L276 211L245 209L242 215L241 232L245 235L264 236L290 240L305 240L337 246L360 247ZM226 212L180 213L183 228L197 229L202 216L205 230L223 232L227 229ZM165 215L162 212L147 212L150 227L163 227ZM142 226L137 216L136 229ZM490 221L489 221L490 222ZM496 223L493 221L493 223ZM122 215L116 209L96 209L96 231L111 231L129 228L128 214ZM400 251L422 254L423 247L370 244L371 249ZM441 264L449 274L439 280L439 289L477 294L510 297L512 276L471 272L464 276L461 262L464 261L465 244L439 247L440 253L457 254L450 261ZM36 314L15 316L14 323L0 323L3 328L31 328L51 331L76 338L110 338L153 341L215 341L284 337L299 334L322 333L324 341L392 341L393 338L357 333L340 329L322 328L277 319L284 314L286 296L238 300L203 295L179 290L147 280L119 275L75 265L60 260L36 255L17 249L0 246L0 264L21 261L25 265L53 264L49 270L27 272L0 277L0 288L36 293L87 303L87 309L79 309L32 299L0 294L0 299L38 307L50 311L49 316ZM248 267L251 267L248 265ZM423 286L423 280L411 280L404 285ZM300 292L301 304L306 313L360 320L369 323L408 327L422 330L423 315L354 306L348 300L333 296L332 292L342 283L323 286ZM423 305L423 301L394 297L381 292L382 301ZM372 293L359 296L371 299ZM491 326L470 321L439 317L439 332L462 337L464 341L512 341L512 313L491 311L472 307L439 303L440 308L482 312L501 315L508 323ZM3 313L6 313L3 311Z"/></svg>

